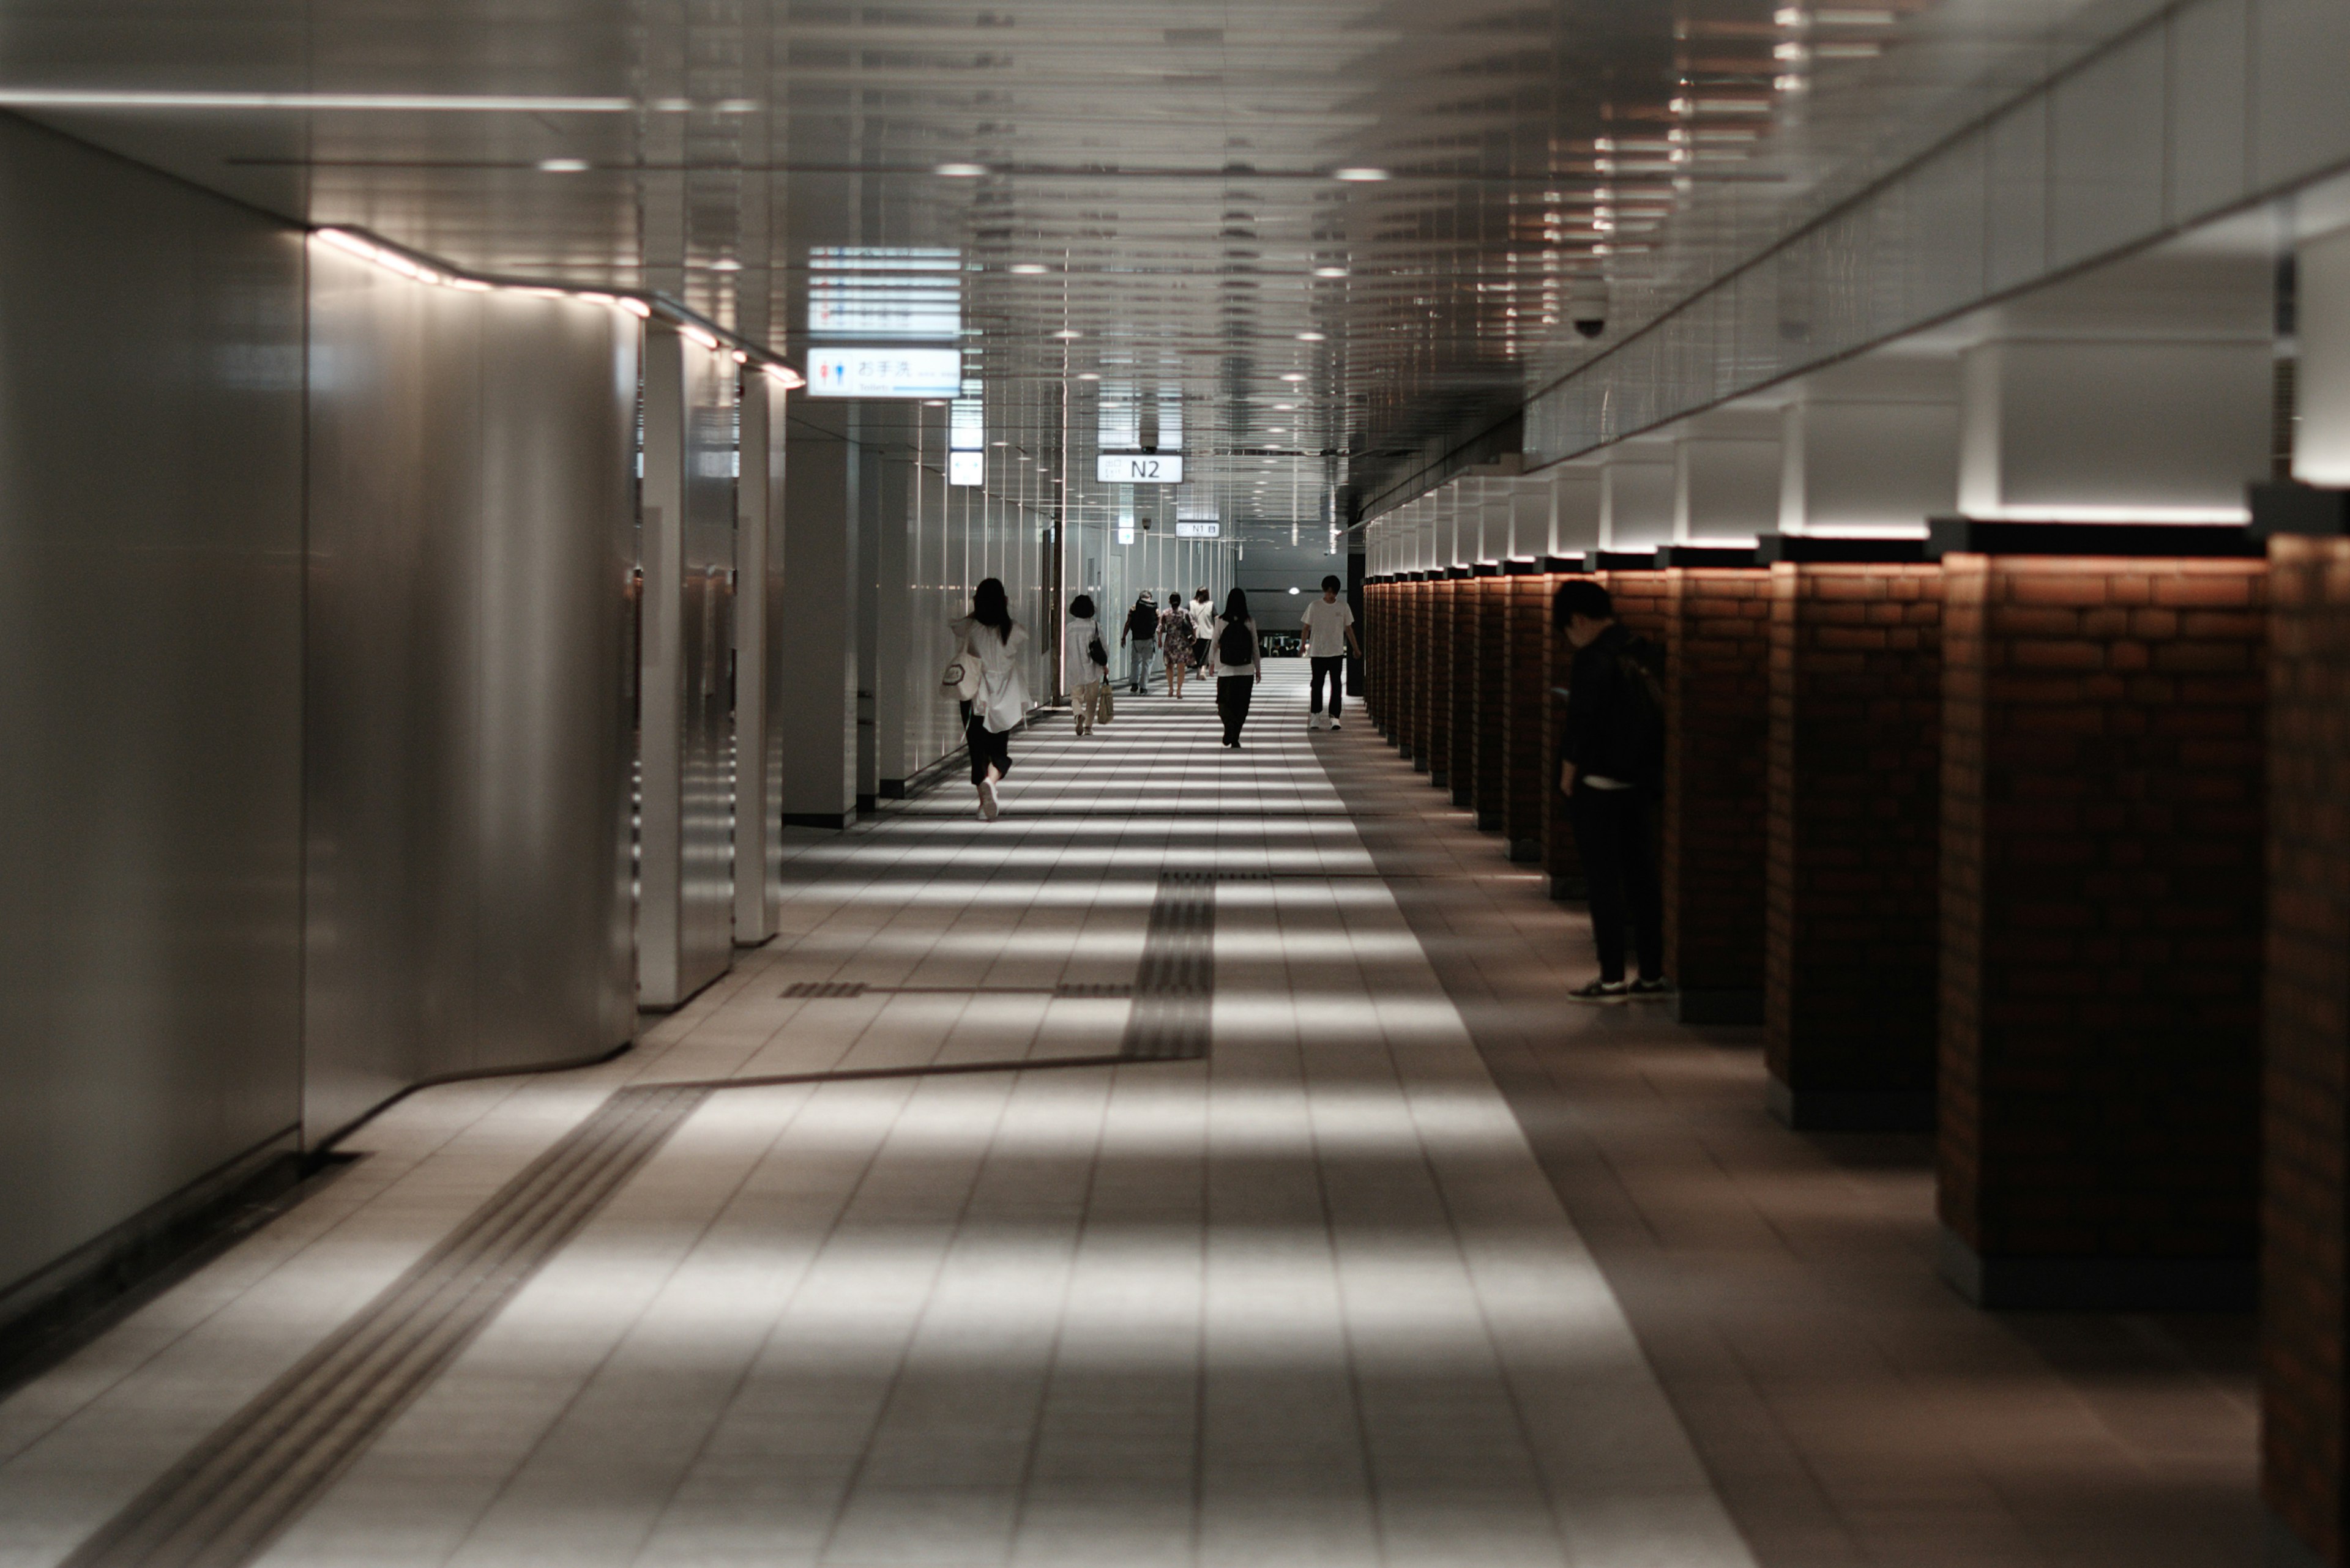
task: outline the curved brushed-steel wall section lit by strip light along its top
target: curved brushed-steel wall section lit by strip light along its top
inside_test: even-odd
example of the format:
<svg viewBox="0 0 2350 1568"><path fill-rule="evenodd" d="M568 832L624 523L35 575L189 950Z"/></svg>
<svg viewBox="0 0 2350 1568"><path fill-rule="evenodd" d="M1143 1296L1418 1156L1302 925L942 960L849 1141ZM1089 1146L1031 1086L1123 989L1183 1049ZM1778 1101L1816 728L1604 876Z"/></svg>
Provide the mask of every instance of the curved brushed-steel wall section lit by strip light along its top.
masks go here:
<svg viewBox="0 0 2350 1568"><path fill-rule="evenodd" d="M634 1027L627 534L637 324L315 244L313 1138L418 1079Z"/></svg>

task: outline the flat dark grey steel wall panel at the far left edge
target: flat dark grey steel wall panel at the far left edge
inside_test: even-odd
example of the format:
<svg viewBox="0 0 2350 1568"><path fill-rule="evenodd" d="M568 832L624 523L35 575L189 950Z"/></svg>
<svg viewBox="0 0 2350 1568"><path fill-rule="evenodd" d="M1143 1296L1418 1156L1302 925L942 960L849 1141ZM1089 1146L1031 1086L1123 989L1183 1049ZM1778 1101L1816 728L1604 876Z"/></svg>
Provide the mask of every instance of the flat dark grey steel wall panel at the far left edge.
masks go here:
<svg viewBox="0 0 2350 1568"><path fill-rule="evenodd" d="M0 1286L294 1131L301 240L0 118Z"/></svg>

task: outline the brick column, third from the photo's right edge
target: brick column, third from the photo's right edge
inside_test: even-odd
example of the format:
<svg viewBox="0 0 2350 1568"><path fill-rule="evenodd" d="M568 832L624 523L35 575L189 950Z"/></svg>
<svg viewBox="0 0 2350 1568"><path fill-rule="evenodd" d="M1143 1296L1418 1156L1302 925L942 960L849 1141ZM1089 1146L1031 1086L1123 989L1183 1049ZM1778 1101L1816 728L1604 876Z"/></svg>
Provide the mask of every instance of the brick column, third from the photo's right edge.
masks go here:
<svg viewBox="0 0 2350 1568"><path fill-rule="evenodd" d="M1798 1128L1932 1128L1941 569L1904 541L1765 555L1770 1107Z"/></svg>

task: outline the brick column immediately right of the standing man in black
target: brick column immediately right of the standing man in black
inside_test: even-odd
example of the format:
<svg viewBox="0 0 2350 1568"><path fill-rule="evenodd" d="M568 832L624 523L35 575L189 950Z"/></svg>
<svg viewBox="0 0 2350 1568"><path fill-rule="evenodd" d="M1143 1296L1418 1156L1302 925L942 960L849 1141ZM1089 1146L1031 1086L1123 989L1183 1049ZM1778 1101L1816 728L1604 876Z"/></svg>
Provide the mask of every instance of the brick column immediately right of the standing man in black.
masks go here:
<svg viewBox="0 0 2350 1568"><path fill-rule="evenodd" d="M1762 1023L1770 571L1668 545L1664 969L1683 1023ZM1746 562L1746 564L1732 564Z"/></svg>

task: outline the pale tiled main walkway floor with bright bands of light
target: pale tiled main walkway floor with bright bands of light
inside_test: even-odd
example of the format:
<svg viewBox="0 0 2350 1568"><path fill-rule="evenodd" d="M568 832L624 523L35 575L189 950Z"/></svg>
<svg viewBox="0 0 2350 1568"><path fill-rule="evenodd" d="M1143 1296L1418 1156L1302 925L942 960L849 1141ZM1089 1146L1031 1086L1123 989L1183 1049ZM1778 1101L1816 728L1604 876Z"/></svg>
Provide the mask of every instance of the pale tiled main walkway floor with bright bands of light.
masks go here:
<svg viewBox="0 0 2350 1568"><path fill-rule="evenodd" d="M1309 741L1300 689L1241 755L1203 696L1128 701L1018 741L1001 823L949 783L808 835L787 933L637 1053L395 1107L0 1403L0 1566L73 1552L616 1088L1010 1060L712 1093L261 1561L1751 1563L1316 762L1384 752ZM1213 1056L1050 1065L1116 1048L1128 1001L1050 987L1133 980L1166 870L1222 877Z"/></svg>

